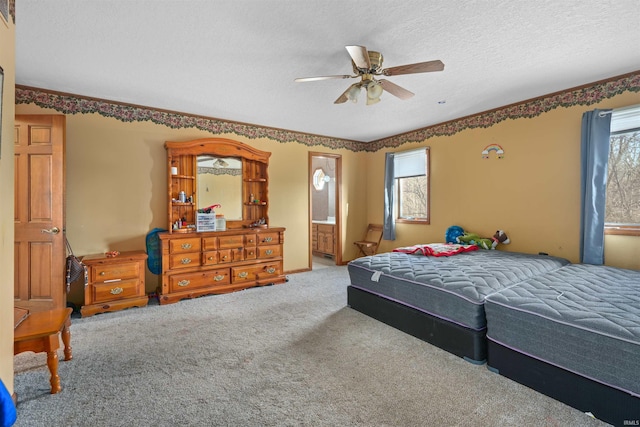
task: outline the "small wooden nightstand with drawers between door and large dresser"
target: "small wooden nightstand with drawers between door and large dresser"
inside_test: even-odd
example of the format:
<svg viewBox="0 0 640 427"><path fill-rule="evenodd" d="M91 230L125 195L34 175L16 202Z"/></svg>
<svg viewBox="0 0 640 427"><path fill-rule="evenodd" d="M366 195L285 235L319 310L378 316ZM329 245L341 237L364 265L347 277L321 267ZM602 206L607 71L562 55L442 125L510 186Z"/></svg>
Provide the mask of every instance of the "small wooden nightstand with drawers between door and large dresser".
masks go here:
<svg viewBox="0 0 640 427"><path fill-rule="evenodd" d="M115 257L105 254L83 257L82 262L89 269L89 283L84 288L82 316L147 305L146 260L144 251L122 252Z"/></svg>

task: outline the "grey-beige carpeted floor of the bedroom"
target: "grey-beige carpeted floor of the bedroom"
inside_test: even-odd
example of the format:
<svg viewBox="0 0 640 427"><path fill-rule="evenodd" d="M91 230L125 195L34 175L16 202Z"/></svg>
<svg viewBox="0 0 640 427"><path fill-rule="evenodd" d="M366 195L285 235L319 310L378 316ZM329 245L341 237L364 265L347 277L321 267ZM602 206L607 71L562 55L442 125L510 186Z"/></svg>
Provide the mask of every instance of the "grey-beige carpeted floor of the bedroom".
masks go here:
<svg viewBox="0 0 640 427"><path fill-rule="evenodd" d="M344 266L289 279L74 318L61 393L15 357L16 425L605 425L351 310Z"/></svg>

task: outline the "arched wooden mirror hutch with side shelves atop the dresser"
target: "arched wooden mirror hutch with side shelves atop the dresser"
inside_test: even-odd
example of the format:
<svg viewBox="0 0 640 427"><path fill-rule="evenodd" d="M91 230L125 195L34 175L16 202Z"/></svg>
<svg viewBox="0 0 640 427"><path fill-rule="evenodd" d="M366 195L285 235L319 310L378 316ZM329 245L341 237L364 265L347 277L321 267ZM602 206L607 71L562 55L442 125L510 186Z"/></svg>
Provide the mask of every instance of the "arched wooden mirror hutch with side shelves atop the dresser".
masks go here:
<svg viewBox="0 0 640 427"><path fill-rule="evenodd" d="M165 148L170 233L195 232L198 210L216 204L227 229L269 224L271 153L224 138L167 141Z"/></svg>

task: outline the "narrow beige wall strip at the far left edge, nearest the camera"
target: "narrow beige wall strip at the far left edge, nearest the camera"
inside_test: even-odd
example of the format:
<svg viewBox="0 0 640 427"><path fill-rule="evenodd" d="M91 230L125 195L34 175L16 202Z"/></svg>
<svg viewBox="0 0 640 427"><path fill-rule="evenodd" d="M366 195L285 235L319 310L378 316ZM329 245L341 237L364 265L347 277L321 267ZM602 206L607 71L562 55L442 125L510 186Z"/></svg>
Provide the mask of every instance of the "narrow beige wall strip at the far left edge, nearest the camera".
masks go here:
<svg viewBox="0 0 640 427"><path fill-rule="evenodd" d="M0 141L0 379L13 393L13 123L15 25L0 17L0 66L4 70Z"/></svg>

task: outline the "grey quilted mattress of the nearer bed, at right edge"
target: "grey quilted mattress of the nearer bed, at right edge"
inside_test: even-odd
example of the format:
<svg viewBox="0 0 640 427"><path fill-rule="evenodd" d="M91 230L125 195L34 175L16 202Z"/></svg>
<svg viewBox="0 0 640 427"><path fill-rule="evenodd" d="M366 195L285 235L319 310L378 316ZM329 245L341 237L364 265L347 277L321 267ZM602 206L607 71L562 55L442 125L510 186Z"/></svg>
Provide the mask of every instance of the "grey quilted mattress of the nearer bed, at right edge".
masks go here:
<svg viewBox="0 0 640 427"><path fill-rule="evenodd" d="M640 396L640 271L572 264L488 296L485 309L489 340Z"/></svg>

